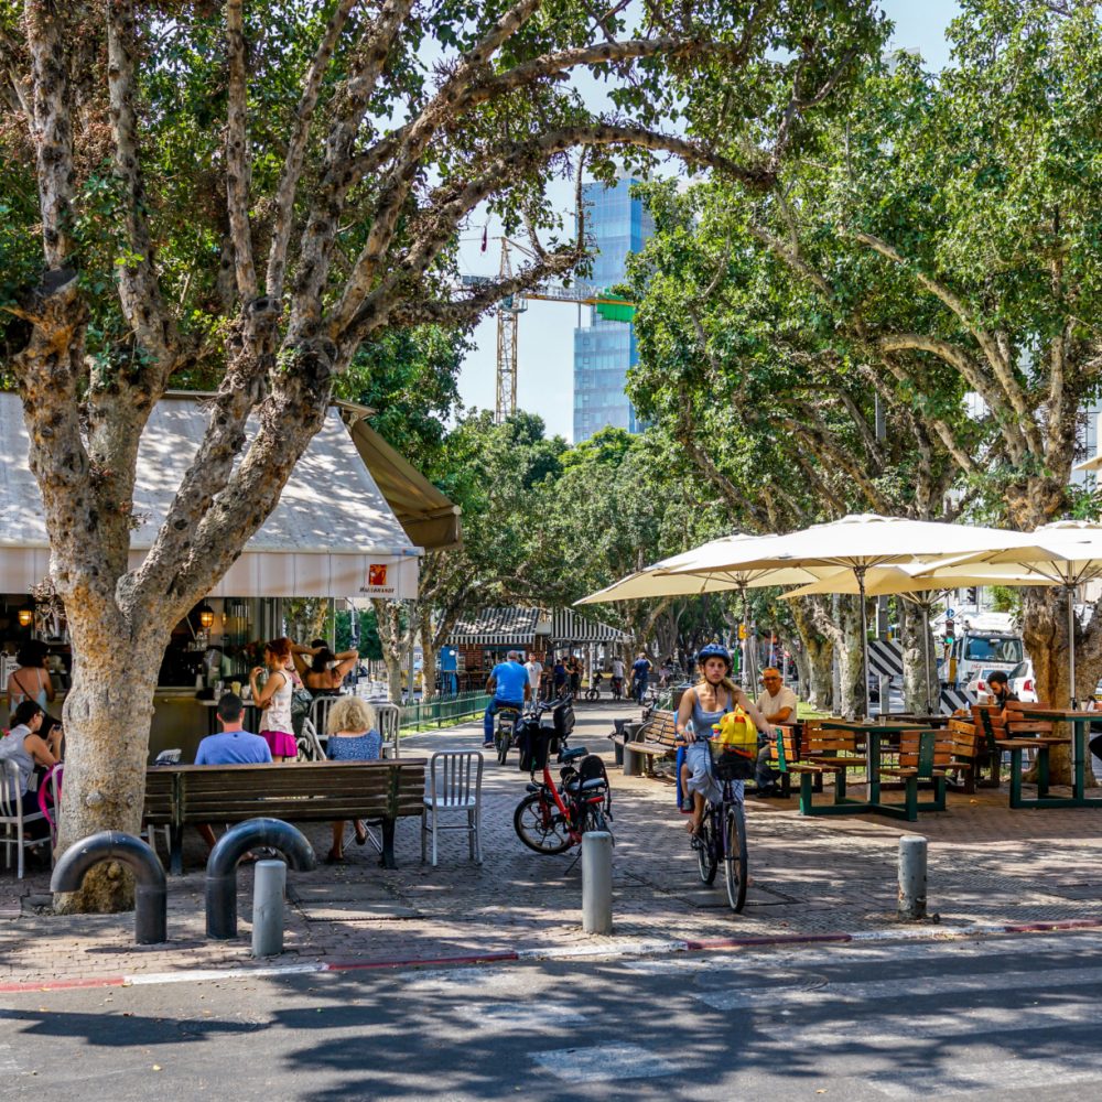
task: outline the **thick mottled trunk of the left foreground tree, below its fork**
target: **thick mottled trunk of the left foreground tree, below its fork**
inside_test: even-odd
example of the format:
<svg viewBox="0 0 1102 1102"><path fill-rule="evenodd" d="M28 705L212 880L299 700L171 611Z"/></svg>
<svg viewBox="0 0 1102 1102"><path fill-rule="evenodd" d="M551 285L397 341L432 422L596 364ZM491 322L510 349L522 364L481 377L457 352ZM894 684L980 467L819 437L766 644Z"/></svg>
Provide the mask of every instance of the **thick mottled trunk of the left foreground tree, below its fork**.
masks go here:
<svg viewBox="0 0 1102 1102"><path fill-rule="evenodd" d="M141 831L153 690L169 641L166 630L143 633L128 647L123 672L119 634L75 603L68 609L73 687L62 720L66 777L74 781L62 788L61 853L99 831ZM143 619L164 623L155 609ZM117 862L105 862L88 873L79 892L57 895L54 906L65 914L129 910L133 877Z"/></svg>

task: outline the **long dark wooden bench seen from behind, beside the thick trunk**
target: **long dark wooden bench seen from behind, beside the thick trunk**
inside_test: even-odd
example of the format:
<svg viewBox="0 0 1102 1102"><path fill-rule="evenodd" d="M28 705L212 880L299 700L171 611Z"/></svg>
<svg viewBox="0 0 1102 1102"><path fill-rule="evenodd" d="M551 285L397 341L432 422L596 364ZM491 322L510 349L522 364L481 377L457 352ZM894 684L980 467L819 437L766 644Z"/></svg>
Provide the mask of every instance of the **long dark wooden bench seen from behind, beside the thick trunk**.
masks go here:
<svg viewBox="0 0 1102 1102"><path fill-rule="evenodd" d="M291 823L379 819L380 864L395 868L395 825L422 814L424 768L424 758L158 766L145 774L143 818L169 828L173 873L183 872L185 825L262 817Z"/></svg>

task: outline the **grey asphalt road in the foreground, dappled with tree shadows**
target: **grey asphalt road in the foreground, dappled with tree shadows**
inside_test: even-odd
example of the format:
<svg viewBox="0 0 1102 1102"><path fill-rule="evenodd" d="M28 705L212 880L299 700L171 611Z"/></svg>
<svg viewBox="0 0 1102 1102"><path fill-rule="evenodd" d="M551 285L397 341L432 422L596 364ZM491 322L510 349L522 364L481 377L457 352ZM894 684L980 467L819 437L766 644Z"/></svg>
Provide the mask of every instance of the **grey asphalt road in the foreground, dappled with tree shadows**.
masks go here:
<svg viewBox="0 0 1102 1102"><path fill-rule="evenodd" d="M4 1099L1082 1099L1102 936L39 992Z"/></svg>

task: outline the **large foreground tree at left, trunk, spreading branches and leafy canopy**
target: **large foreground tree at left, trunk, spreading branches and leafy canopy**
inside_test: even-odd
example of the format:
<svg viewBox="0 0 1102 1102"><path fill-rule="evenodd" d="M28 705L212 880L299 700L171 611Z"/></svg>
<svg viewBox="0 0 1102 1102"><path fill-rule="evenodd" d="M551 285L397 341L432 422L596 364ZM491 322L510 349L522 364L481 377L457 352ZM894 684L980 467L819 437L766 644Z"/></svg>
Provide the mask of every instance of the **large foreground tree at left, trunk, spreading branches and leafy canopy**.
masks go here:
<svg viewBox="0 0 1102 1102"><path fill-rule="evenodd" d="M584 218L559 240L542 195L580 180L583 159L608 179L614 153L636 166L669 153L768 186L804 108L879 33L869 4L843 0L659 2L634 33L623 9L594 19L569 0L29 0L21 13L6 0L0 13L4 156L36 188L43 270L8 307L22 326L9 369L75 652L63 846L137 831L169 629L269 515L365 343L462 327L571 272ZM587 109L577 69L611 79L615 114ZM689 137L656 129L682 111ZM456 230L479 204L526 223L536 259L453 291ZM207 434L129 570L149 411L170 382L212 375ZM66 905L117 907L120 883L97 873Z"/></svg>

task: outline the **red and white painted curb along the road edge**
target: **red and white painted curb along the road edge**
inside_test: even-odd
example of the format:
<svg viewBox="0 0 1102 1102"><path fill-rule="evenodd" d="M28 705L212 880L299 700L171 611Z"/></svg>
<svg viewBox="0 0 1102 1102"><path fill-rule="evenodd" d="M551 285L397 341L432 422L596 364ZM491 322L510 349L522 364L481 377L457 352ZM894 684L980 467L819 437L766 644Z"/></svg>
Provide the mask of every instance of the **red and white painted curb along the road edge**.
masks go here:
<svg viewBox="0 0 1102 1102"><path fill-rule="evenodd" d="M0 983L0 994L74 991L88 987L139 987L163 983L202 983L210 980L255 980L263 976L310 975L318 972L367 972L399 968L458 968L464 964L503 964L515 961L555 961L582 958L623 960L671 953L719 952L731 949L768 949L781 946L847 944L869 941L952 941L1009 933L1059 933L1102 928L1102 918L1073 918L1055 922L1004 922L981 926L939 927L927 923L898 930L865 930L856 933L786 933L765 938L715 938L695 940L607 941L588 946L547 946L501 952L462 953L451 957L379 958L363 961L318 961L313 964L278 964L259 968L192 969L181 972L145 972L134 975L88 976L76 980Z"/></svg>

